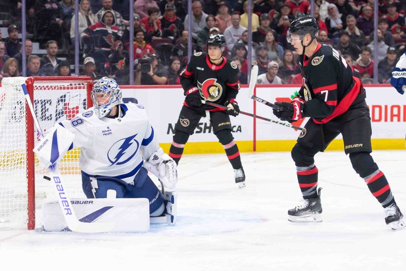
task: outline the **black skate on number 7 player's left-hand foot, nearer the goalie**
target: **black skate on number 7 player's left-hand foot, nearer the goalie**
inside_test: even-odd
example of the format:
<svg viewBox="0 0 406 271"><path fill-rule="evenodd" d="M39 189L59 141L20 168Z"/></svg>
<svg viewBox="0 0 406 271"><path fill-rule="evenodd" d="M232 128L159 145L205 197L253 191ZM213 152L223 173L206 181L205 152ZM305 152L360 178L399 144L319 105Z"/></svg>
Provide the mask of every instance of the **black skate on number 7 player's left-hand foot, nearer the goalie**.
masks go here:
<svg viewBox="0 0 406 271"><path fill-rule="evenodd" d="M317 198L302 199L296 207L288 210L288 220L297 223L322 222L321 189L320 187L317 191Z"/></svg>

